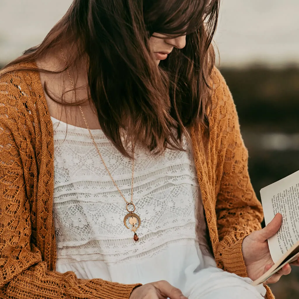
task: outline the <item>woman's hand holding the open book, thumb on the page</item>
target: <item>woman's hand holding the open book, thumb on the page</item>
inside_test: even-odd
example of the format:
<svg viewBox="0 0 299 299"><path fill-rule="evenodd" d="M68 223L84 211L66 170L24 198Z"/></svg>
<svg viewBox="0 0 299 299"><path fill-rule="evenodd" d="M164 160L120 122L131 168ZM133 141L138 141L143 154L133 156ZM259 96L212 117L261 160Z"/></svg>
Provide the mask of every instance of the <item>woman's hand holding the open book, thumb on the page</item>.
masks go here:
<svg viewBox="0 0 299 299"><path fill-rule="evenodd" d="M256 280L268 271L274 262L270 255L268 238L274 236L279 230L282 222L282 215L277 213L271 222L260 231L254 231L242 243L242 253L248 277ZM282 269L272 275L267 283L277 282L282 275L290 274L291 266L289 264L283 266Z"/></svg>

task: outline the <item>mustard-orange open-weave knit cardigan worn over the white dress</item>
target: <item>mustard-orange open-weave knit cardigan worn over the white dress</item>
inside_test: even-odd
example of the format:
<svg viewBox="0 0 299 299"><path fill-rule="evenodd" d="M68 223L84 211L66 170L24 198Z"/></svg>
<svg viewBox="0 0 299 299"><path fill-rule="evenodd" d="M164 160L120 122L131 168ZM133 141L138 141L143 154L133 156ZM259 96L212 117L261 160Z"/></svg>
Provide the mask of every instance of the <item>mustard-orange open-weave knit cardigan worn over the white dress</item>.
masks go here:
<svg viewBox="0 0 299 299"><path fill-rule="evenodd" d="M260 229L262 208L248 176L235 105L216 69L213 84L208 150L201 130L191 132L195 165L217 266L246 276L242 240ZM1 76L1 298L129 298L136 285L80 280L72 272L54 271L53 134L38 72L12 69ZM269 289L267 295L273 298Z"/></svg>

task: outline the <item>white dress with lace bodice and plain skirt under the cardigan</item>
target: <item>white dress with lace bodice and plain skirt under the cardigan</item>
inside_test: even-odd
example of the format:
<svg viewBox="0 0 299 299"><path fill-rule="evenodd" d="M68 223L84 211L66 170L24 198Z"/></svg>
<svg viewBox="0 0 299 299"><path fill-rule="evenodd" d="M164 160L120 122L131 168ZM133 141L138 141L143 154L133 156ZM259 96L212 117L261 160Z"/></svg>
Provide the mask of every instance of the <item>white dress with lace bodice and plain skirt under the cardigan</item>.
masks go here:
<svg viewBox="0 0 299 299"><path fill-rule="evenodd" d="M139 241L134 242L132 231L123 224L126 202L88 130L54 118L52 122L57 271L128 284L167 280L189 299L265 295L265 288L252 287L249 278L216 268L208 251L199 184L186 139L186 152L168 149L153 156L135 149L133 202L141 226ZM131 161L102 130L91 131L112 177L130 201Z"/></svg>

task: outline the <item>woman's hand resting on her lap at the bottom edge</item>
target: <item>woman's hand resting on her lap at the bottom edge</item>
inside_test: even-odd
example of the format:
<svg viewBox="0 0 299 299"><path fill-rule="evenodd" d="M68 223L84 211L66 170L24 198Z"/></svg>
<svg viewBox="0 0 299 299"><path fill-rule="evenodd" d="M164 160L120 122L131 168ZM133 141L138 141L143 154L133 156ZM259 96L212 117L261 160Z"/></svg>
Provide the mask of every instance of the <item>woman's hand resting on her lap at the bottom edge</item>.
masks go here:
<svg viewBox="0 0 299 299"><path fill-rule="evenodd" d="M147 283L133 290L129 299L188 299L165 280Z"/></svg>

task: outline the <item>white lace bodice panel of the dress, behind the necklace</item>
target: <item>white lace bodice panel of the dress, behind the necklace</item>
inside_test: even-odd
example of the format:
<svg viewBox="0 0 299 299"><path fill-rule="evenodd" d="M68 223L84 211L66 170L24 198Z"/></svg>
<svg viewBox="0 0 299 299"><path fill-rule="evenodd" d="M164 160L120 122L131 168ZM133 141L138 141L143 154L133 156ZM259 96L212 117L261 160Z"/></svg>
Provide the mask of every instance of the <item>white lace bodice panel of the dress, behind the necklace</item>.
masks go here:
<svg viewBox="0 0 299 299"><path fill-rule="evenodd" d="M54 126L54 223L57 258L104 260L138 258L196 239L195 203L199 184L191 147L167 149L153 156L136 148L133 201L141 217L139 242L123 225L126 203L120 197L84 128L52 118ZM103 159L129 199L131 161L124 158L101 130L92 130Z"/></svg>

